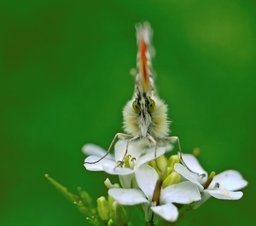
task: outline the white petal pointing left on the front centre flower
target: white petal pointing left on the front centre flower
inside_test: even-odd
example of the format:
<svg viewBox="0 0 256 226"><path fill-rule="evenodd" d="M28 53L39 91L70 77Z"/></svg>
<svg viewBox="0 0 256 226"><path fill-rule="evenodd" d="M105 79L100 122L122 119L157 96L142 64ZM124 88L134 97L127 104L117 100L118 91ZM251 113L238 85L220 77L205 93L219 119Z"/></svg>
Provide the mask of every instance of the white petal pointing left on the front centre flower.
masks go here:
<svg viewBox="0 0 256 226"><path fill-rule="evenodd" d="M148 203L143 192L135 188L110 188L108 194L121 205L137 205Z"/></svg>

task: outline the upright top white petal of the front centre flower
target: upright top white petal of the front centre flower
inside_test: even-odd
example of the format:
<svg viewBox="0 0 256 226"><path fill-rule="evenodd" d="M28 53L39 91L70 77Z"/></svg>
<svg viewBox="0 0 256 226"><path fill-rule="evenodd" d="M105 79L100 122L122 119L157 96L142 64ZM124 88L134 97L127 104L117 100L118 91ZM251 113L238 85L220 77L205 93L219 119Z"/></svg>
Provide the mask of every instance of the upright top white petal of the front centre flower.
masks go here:
<svg viewBox="0 0 256 226"><path fill-rule="evenodd" d="M143 193L148 197L148 200L152 200L154 193L154 187L158 180L158 174L149 165L141 165L135 171L135 177L137 185L143 190Z"/></svg>

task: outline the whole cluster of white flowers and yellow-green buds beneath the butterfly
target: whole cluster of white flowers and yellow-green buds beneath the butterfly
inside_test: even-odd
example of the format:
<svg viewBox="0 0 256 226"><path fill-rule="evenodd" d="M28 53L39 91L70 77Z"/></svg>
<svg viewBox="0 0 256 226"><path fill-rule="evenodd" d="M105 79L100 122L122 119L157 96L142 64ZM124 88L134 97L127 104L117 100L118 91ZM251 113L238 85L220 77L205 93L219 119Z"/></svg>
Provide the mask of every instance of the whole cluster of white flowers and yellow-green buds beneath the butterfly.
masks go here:
<svg viewBox="0 0 256 226"><path fill-rule="evenodd" d="M217 175L211 172L208 176L193 154L183 154L183 161L177 155L167 159L165 154L172 147L157 148L155 153L154 148L138 148L131 142L126 155L125 148L126 142L120 140L115 144L114 155L108 154L97 162L106 151L86 144L83 152L89 157L84 166L88 171L117 175L120 186L113 185L109 179L105 181L109 198L120 206L141 205L146 222L157 223L159 219L175 222L183 206L195 209L210 197L238 200L242 192L237 190L247 186L238 171L229 170ZM98 206L102 206L102 202L99 201ZM102 209L102 215L108 213L108 209Z"/></svg>

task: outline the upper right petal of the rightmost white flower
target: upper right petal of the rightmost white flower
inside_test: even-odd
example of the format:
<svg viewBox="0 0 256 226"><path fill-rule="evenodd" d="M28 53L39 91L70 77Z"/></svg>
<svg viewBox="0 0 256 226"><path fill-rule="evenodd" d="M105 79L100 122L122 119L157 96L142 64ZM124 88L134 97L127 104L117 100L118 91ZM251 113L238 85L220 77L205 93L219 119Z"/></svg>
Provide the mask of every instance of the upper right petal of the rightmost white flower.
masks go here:
<svg viewBox="0 0 256 226"><path fill-rule="evenodd" d="M243 179L240 172L233 170L221 172L213 177L209 189L214 188L216 183L218 183L219 188L230 191L236 191L247 186L247 181Z"/></svg>

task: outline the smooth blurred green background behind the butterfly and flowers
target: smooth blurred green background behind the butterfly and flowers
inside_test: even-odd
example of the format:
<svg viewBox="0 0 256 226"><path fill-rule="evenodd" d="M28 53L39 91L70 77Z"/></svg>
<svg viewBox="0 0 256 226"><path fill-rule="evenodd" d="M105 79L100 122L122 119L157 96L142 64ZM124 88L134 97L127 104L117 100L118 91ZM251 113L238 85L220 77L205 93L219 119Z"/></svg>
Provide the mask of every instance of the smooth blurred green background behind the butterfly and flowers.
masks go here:
<svg viewBox="0 0 256 226"><path fill-rule="evenodd" d="M192 212L194 225L253 225L255 9L253 0L0 3L0 225L85 225L45 173L73 192L107 194L108 176L85 171L81 148L108 148L122 131L144 20L172 135L184 152L201 148L207 171L236 169L249 182L241 200Z"/></svg>

